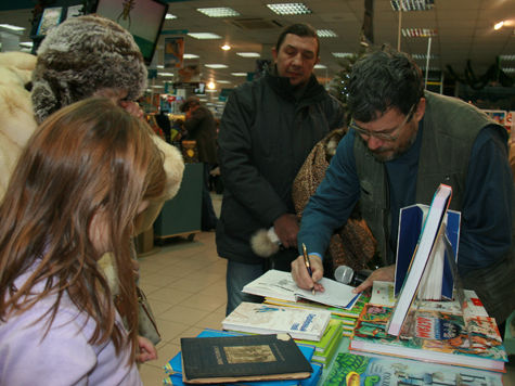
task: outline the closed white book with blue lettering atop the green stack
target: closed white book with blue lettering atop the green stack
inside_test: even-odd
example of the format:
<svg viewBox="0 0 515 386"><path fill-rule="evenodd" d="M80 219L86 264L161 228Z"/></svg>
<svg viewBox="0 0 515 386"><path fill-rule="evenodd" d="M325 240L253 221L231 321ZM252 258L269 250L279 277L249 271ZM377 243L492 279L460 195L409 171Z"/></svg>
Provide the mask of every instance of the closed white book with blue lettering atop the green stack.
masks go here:
<svg viewBox="0 0 515 386"><path fill-rule="evenodd" d="M223 330L255 334L287 333L296 339L320 340L331 312L257 303L241 303L223 321Z"/></svg>

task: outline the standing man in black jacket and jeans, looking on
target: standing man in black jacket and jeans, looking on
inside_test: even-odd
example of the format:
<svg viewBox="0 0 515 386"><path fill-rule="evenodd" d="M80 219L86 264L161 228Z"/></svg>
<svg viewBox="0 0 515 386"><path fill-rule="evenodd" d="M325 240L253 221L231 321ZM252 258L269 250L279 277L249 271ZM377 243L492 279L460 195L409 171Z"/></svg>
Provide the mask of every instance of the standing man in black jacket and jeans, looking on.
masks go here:
<svg viewBox="0 0 515 386"><path fill-rule="evenodd" d="M298 232L293 180L313 145L345 125L342 105L312 74L319 39L310 26L284 29L272 53L274 68L229 97L218 138L224 192L217 250L229 260L228 314L253 299L241 290L267 268L289 271ZM267 261L250 239L271 227L282 248Z"/></svg>

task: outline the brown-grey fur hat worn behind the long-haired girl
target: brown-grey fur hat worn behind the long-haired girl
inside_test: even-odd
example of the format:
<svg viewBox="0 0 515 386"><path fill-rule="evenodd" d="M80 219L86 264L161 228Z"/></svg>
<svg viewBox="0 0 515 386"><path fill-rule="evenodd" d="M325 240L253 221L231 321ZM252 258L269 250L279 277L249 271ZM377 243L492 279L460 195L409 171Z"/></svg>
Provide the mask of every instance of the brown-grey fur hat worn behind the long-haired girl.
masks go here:
<svg viewBox="0 0 515 386"><path fill-rule="evenodd" d="M132 35L96 15L72 17L52 28L38 49L33 73L38 123L105 88L127 90L128 100L146 88L146 67Z"/></svg>

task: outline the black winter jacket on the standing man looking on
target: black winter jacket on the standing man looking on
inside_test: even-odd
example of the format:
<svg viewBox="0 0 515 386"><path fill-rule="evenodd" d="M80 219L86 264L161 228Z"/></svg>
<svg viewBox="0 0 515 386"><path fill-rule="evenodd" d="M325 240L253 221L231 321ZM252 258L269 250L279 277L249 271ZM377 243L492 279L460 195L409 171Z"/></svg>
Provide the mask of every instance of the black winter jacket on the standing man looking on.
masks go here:
<svg viewBox="0 0 515 386"><path fill-rule="evenodd" d="M271 74L244 83L226 105L218 137L224 191L218 255L260 263L250 237L280 216L295 214L292 183L314 144L345 125L340 103L312 75L297 100L288 78ZM275 259L293 260L296 248Z"/></svg>

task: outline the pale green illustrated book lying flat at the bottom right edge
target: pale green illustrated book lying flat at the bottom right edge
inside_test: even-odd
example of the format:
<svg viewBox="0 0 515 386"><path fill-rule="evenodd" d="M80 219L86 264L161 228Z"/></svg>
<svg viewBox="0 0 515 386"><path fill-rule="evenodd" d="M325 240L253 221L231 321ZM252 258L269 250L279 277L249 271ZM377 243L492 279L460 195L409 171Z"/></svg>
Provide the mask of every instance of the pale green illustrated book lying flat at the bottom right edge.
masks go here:
<svg viewBox="0 0 515 386"><path fill-rule="evenodd" d="M387 357L340 352L324 386L340 385L446 385L502 386L502 375L488 371Z"/></svg>

